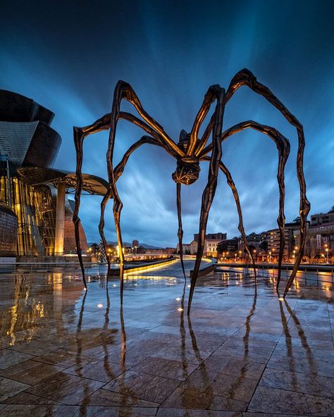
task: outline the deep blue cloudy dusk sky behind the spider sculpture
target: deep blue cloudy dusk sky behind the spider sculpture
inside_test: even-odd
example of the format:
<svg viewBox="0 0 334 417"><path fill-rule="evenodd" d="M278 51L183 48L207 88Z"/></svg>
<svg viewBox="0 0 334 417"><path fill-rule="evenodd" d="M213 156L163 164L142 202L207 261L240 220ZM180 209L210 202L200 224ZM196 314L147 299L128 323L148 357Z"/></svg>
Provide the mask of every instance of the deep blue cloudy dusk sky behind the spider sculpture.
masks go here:
<svg viewBox="0 0 334 417"><path fill-rule="evenodd" d="M242 68L252 70L304 125L304 171L311 213L334 204L333 1L1 1L0 88L18 92L56 114L62 137L54 166L75 169L73 125L111 110L118 80L130 82L144 108L178 142L190 131L209 85L228 87ZM135 110L128 103L126 111ZM242 120L272 125L290 139L286 218L298 214L297 135L268 102L242 87L225 109L226 129ZM115 164L142 132L118 124ZM83 170L107 178L108 132L86 139ZM276 227L278 185L275 144L246 131L223 144L223 161L240 192L247 232ZM198 231L207 180L183 187L184 242ZM175 246L175 160L144 145L130 158L118 189L123 239ZM101 198L82 198L87 239L99 242ZM238 235L237 212L225 179L218 179L208 232ZM116 240L112 202L106 236Z"/></svg>

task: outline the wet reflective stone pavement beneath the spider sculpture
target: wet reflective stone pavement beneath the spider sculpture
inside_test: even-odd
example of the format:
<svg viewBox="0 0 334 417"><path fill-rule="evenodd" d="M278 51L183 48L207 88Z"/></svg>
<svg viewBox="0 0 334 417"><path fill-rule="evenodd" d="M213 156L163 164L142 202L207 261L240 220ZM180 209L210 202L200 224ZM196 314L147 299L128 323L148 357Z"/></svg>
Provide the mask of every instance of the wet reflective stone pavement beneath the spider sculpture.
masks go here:
<svg viewBox="0 0 334 417"><path fill-rule="evenodd" d="M128 278L0 275L0 417L334 416L330 287L215 273L188 318L180 263Z"/></svg>

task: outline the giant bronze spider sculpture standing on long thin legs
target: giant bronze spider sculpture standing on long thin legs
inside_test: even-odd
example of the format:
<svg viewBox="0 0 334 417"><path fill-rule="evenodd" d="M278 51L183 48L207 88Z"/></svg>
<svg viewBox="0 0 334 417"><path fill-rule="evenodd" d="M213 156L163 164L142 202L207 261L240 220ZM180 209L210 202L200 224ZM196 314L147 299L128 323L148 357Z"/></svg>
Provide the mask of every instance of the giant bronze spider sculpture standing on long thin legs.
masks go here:
<svg viewBox="0 0 334 417"><path fill-rule="evenodd" d="M192 304L192 297L194 294L194 287L196 285L197 276L199 273L199 266L202 260L204 253L204 240L206 234L206 225L209 217L209 210L211 204L214 201L214 195L216 192L217 178L219 170L223 172L225 178L228 182L228 185L232 189L233 197L235 199L235 204L237 206L237 211L239 214L239 230L242 235L243 242L248 251L250 258L252 259L254 266L254 259L252 253L249 251L247 245L247 239L245 235L244 226L242 223L242 211L240 207L240 199L237 194L237 189L233 182L233 178L230 175L228 168L221 161L222 158L222 142L234 135L237 132L245 129L254 129L258 130L265 135L268 135L273 142L275 142L278 149L278 187L280 193L280 204L279 204L279 215L278 215L278 228L280 230L280 251L278 257L278 281L277 289L280 283L280 268L283 261L283 251L285 247L285 235L284 235L284 201L285 201L285 183L284 183L284 169L287 157L290 153L290 143L288 140L280 133L278 130L273 127L261 125L252 120L248 120L243 123L238 123L237 125L230 127L228 130L223 131L223 114L225 105L230 101L233 94L237 91L242 85L247 85L257 94L260 94L265 99L267 99L273 106L278 108L278 110L283 114L287 121L296 127L298 135L298 150L297 150L297 178L299 181L300 189L300 204L299 204L299 216L300 216L300 245L299 252L295 259L295 266L292 270L290 278L287 280L287 285L285 287L285 292L283 297L287 294L292 282L296 276L300 262L302 261L302 256L304 253L304 245L306 238L306 229L307 229L307 214L309 213L309 201L306 197L306 184L304 180L304 171L303 171L303 155L304 155L304 132L301 123L295 118L295 116L287 110L283 103L271 92L268 87L262 85L256 80L256 77L247 69L241 70L238 72L235 77L230 82L230 86L227 91L219 85L212 85L209 87L208 91L204 96L204 101L199 108L197 116L194 120L194 125L192 130L187 133L185 130L181 130L180 139L178 143L175 143L171 137L167 135L163 127L154 120L149 114L144 111L140 100L135 94L135 91L132 87L123 81L119 81L116 85L115 92L113 94L113 106L111 108L111 113L107 113L105 116L97 120L92 125L86 127L74 127L74 141L75 149L77 155L77 168L76 176L78 180L78 187L75 191L75 211L73 214L73 221L75 223L75 239L78 249L78 257L80 261L80 266L82 269L82 276L86 285L85 280L85 269L82 263L82 251L80 249L80 236L79 236L79 225L80 218L78 217L79 208L80 208L80 195L82 192L82 147L85 137L92 135L92 133L100 132L101 130L109 130L109 145L108 151L106 153L106 161L108 166L108 177L109 177L109 189L107 190L104 198L101 201L101 217L99 221L99 233L101 235L101 241L106 248L106 238L104 237L104 211L106 204L109 199L113 199L113 216L116 225L116 233L118 238L118 248L119 248L119 257L120 257L120 302L123 302L123 273L124 273L124 256L123 256L123 244L122 244L122 235L120 232L120 212L122 210L123 204L120 200L116 182L120 178L120 175L123 174L125 165L135 149L142 146L142 144L153 144L168 152L171 156L176 159L176 170L173 173L172 178L176 182L176 200L177 200L177 209L178 209L178 239L180 247L180 261L183 268L183 273L185 275L185 268L183 265L183 247L182 247L182 237L183 237L183 228L182 228L182 218L181 218L181 185L190 185L199 178L199 163L201 161L209 162L209 175L208 182L202 194L202 208L200 213L199 220L199 235L198 235L198 249L196 261L194 264L194 270L192 273L191 285L190 285L190 295L188 301L188 313L190 313L190 308ZM130 101L130 103L135 107L141 118L137 118L131 113L125 113L120 111L121 101L125 99ZM206 117L211 104L215 102L216 108L213 115L210 118L209 124L204 130L202 137L199 137L199 128L201 127L204 118ZM144 132L148 135L144 135L139 141L132 144L132 146L125 152L122 160L118 165L113 167L113 149L115 144L116 136L116 127L118 120L125 119L130 123L141 127ZM207 144L209 137L212 134L211 143ZM107 254L107 251L106 251ZM108 274L110 272L110 259L107 255L108 262ZM255 272L255 266L254 266Z"/></svg>

